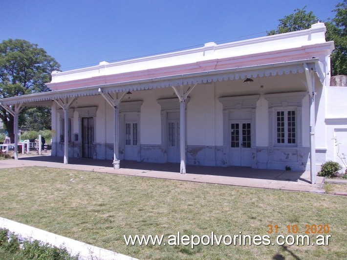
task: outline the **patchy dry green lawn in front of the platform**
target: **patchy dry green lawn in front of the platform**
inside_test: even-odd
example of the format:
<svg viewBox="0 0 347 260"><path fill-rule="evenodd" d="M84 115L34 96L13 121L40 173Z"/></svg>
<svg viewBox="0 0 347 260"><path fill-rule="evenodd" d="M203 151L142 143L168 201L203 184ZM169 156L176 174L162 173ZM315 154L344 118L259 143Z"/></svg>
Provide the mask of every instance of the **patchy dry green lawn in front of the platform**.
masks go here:
<svg viewBox="0 0 347 260"><path fill-rule="evenodd" d="M121 171L121 170L120 170ZM70 181L73 178L73 181ZM0 216L139 259L346 259L347 198L52 168L0 173ZM304 235L319 245L129 245L123 235ZM288 234L287 225L297 225ZM315 238L317 234L311 234ZM324 234L323 234L324 235ZM167 239L166 239L167 241Z"/></svg>

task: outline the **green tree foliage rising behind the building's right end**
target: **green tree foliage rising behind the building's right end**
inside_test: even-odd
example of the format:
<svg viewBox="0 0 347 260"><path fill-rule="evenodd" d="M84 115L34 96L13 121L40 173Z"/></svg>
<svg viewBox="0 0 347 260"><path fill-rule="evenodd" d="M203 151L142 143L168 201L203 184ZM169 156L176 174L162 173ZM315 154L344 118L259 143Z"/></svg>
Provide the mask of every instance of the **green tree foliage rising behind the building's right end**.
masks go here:
<svg viewBox="0 0 347 260"><path fill-rule="evenodd" d="M326 41L335 43L335 50L331 54L331 76L347 75L347 0L338 3L332 12L336 12L335 17L325 22ZM267 35L308 29L317 21L318 18L313 12L306 12L306 6L304 6L302 9L295 9L293 14L280 19L277 29L268 31Z"/></svg>

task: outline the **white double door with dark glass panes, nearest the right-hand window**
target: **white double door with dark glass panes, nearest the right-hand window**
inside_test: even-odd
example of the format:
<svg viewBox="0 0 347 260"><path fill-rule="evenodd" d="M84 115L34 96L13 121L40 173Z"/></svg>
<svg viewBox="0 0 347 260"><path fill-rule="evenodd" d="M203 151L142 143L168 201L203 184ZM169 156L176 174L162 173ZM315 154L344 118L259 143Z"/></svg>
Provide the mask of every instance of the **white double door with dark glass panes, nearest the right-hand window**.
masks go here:
<svg viewBox="0 0 347 260"><path fill-rule="evenodd" d="M229 123L229 164L252 166L251 120L231 120Z"/></svg>

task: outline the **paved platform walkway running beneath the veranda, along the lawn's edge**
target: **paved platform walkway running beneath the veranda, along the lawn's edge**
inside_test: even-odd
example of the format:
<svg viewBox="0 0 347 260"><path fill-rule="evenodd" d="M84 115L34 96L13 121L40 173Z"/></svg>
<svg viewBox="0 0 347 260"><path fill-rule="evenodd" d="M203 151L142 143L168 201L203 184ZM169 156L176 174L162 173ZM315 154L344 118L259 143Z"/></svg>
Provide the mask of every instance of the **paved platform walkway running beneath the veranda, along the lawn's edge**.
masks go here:
<svg viewBox="0 0 347 260"><path fill-rule="evenodd" d="M244 187L278 189L288 191L324 193L324 178L316 176L316 184L310 184L309 172L260 170L250 167L210 167L187 165L187 173L179 173L179 164L121 161L121 169L113 169L111 160L20 155L19 160L1 160L0 169L28 166L44 166L88 172L163 178L201 183L236 185Z"/></svg>

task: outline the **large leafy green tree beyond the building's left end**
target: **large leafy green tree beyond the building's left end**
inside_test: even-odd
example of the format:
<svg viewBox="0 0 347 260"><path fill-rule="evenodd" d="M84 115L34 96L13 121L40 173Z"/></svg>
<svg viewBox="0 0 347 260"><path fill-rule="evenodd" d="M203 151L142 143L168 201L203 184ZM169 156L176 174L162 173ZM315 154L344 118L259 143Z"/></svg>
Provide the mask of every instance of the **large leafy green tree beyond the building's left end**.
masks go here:
<svg viewBox="0 0 347 260"><path fill-rule="evenodd" d="M0 98L49 91L44 84L51 80L51 72L59 68L59 63L37 44L18 39L3 41L0 43ZM0 108L0 119L13 138L13 116ZM20 125L24 119L25 110Z"/></svg>

